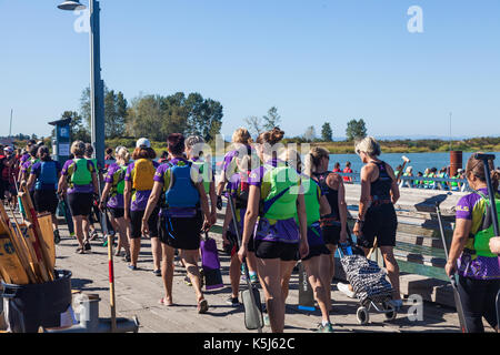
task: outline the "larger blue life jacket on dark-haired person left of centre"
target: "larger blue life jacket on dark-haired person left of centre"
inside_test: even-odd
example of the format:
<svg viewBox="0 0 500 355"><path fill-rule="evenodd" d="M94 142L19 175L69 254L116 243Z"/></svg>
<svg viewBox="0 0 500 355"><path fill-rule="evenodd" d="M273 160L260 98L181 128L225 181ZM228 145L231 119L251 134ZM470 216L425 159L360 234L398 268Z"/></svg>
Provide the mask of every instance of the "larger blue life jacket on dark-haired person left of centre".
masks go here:
<svg viewBox="0 0 500 355"><path fill-rule="evenodd" d="M191 166L192 162L180 160L166 171L163 186L168 186L164 193L167 209L199 206L200 193L192 181Z"/></svg>

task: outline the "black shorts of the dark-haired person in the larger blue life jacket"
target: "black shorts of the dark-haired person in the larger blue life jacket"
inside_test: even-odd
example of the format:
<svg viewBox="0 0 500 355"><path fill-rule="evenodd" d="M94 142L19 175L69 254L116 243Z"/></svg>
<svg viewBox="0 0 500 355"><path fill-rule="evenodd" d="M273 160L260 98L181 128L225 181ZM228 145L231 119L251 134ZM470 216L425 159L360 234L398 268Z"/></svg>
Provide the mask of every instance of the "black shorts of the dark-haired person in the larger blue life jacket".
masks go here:
<svg viewBox="0 0 500 355"><path fill-rule="evenodd" d="M193 217L160 217L160 241L173 248L196 251L200 248L203 216L199 211Z"/></svg>

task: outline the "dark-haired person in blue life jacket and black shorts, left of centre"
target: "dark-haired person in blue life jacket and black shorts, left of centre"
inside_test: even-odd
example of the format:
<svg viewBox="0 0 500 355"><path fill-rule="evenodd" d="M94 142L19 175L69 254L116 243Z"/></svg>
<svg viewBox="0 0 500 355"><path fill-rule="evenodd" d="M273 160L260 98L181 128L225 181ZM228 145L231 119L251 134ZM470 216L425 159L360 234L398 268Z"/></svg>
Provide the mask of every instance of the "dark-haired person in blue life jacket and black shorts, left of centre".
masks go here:
<svg viewBox="0 0 500 355"><path fill-rule="evenodd" d="M170 161L160 165L154 174L154 185L149 196L142 219L142 232L150 231L149 217L156 214L161 194L164 205L161 211L160 233L163 260L161 276L166 291L160 304L173 305L173 257L174 250L180 250L180 257L197 295L198 313L208 311L208 302L201 291L200 271L198 268L200 233L210 229L210 209L203 180L198 169L184 155L184 138L172 133L167 139ZM203 223L204 215L204 223Z"/></svg>

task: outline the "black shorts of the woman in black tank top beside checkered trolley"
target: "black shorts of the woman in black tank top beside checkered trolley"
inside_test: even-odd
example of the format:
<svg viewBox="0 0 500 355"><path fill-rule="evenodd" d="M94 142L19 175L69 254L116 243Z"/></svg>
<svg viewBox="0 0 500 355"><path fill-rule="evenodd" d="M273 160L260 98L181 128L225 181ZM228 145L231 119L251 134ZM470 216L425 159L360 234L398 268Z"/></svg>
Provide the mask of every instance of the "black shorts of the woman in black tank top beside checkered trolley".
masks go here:
<svg viewBox="0 0 500 355"><path fill-rule="evenodd" d="M373 247L377 236L379 246L396 246L397 229L398 217L392 203L370 206L361 229L362 236L358 237L358 245L367 248Z"/></svg>

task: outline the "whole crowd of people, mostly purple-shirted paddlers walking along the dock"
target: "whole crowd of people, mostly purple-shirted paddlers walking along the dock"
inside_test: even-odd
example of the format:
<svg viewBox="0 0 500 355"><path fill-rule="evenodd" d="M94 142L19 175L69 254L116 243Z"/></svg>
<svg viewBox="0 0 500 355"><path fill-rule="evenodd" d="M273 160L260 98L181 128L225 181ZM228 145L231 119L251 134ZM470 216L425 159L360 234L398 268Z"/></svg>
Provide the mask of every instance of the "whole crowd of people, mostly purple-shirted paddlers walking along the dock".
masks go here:
<svg viewBox="0 0 500 355"><path fill-rule="evenodd" d="M271 331L283 332L289 280L300 261L321 311L318 332L331 333L334 253L339 245L354 243L347 222L344 189L352 178L339 174L352 173L351 164L348 162L341 171L337 163L333 171L329 171L327 150L314 146L301 158L297 151L280 144L283 135L283 131L274 128L253 142L248 130L238 129L217 184L211 156L203 151L206 142L198 135L170 134L168 151L158 161L146 138L137 141L132 152L124 146L110 148L106 151L104 166L92 159L91 144L73 142L70 160L61 166L51 159L47 146L30 141L24 151L2 148L0 196L16 205L19 186L26 185L36 210L53 215L57 237L56 210L60 200L67 201L79 254L91 251L97 222L91 216L104 212L118 235L117 255L124 251L123 257L131 272L138 270L141 239L149 237L153 274L162 277L164 286L159 303L174 304L174 256L179 255L187 271L186 281L193 287L199 313L209 310L199 268L201 235L217 223L217 211L222 210L223 197L232 199L236 215L231 209L226 209L222 226L224 250L231 255L228 304L240 304L240 270L246 260L250 281L262 287ZM381 161L380 145L371 136L357 143L356 153L363 166L352 233L366 254L377 240L393 288L392 305L398 311L402 301L393 253L398 226L394 203L400 197L397 176L402 168L393 171ZM477 332L483 329L482 317L498 329L494 296L500 287L500 239L494 237L490 225L484 223L488 197L481 164L471 158L466 171L460 172L460 179L467 179L473 192L458 203L457 227L446 267L449 275L458 273L460 276L459 291L467 322ZM411 174L409 166L404 175ZM437 170L431 169L422 176L437 174ZM446 169L439 174L444 176ZM491 178L498 190L500 172L492 169ZM447 186L456 187L451 183ZM354 297L350 285L339 283L338 287Z"/></svg>

